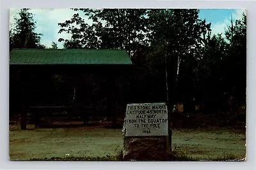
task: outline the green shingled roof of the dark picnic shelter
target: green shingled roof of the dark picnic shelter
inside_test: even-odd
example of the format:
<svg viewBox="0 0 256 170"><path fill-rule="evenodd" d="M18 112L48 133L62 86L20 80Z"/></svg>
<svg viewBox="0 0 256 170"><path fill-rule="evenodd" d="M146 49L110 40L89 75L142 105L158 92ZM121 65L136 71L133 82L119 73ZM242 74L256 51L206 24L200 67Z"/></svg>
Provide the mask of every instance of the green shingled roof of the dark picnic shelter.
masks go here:
<svg viewBox="0 0 256 170"><path fill-rule="evenodd" d="M10 64L132 64L125 50L13 49Z"/></svg>

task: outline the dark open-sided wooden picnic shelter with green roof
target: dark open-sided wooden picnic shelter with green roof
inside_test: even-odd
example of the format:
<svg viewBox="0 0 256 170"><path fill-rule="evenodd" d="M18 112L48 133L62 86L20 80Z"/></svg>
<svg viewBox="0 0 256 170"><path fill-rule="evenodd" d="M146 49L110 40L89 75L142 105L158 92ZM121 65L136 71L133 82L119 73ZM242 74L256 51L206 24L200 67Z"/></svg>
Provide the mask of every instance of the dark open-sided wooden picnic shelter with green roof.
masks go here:
<svg viewBox="0 0 256 170"><path fill-rule="evenodd" d="M131 66L125 50L13 49L10 113L20 113L21 129L26 129L28 111L35 109L91 108L115 118L116 108L126 105L125 77Z"/></svg>

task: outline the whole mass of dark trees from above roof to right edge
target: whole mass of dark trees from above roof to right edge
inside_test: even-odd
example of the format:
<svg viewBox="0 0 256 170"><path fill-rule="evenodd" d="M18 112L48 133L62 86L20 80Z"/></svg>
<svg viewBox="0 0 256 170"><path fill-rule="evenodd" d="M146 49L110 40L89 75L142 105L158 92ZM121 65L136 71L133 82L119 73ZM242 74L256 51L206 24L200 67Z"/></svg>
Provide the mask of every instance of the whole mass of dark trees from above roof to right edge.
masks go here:
<svg viewBox="0 0 256 170"><path fill-rule="evenodd" d="M232 21L223 38L212 35L211 24L194 9L73 10L77 13L70 20L59 23L59 32L71 38L59 41L65 48L127 50L136 75L131 95L141 102L166 101L166 78L171 103L223 109L228 96L244 103L246 15Z"/></svg>

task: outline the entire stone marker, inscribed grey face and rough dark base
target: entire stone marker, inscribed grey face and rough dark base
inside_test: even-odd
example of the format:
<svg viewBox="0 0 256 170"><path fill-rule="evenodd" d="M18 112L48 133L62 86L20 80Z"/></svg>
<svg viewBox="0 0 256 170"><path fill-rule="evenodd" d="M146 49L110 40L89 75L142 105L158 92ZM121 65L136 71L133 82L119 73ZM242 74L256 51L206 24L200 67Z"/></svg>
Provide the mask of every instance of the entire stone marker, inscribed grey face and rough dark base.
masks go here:
<svg viewBox="0 0 256 170"><path fill-rule="evenodd" d="M168 160L168 111L165 103L127 104L124 160Z"/></svg>

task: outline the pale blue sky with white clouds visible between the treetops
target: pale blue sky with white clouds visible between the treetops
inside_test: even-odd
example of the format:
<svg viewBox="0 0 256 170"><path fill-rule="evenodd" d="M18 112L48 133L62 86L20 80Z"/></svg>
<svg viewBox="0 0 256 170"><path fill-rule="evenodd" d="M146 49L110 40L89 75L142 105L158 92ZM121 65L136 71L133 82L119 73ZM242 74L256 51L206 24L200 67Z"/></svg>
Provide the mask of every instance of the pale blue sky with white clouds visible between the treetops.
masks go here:
<svg viewBox="0 0 256 170"><path fill-rule="evenodd" d="M14 22L17 11L19 9L10 9L10 23ZM33 13L33 18L36 21L35 32L43 34L40 43L49 48L52 41L54 41L57 43L58 48L63 48L63 42L58 42L58 39L68 39L70 35L65 32L58 34L60 30L58 23L69 20L77 11L61 8L33 8L30 12ZM234 20L241 19L243 12L245 11L241 9L202 9L198 17L203 20L205 19L207 23L211 23L212 34L223 34L228 23L230 23L230 17L232 16Z"/></svg>

